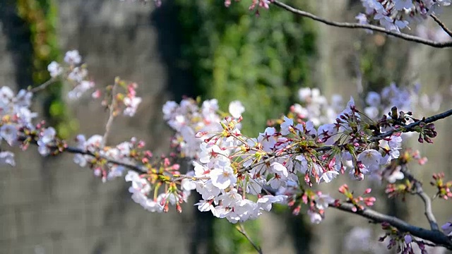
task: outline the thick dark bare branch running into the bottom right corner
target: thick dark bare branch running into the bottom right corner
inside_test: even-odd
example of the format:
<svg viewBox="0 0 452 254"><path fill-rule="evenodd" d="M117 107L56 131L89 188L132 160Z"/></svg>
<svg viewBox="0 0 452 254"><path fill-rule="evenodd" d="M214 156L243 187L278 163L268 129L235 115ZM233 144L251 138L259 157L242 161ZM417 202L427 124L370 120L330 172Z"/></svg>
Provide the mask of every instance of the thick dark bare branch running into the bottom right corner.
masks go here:
<svg viewBox="0 0 452 254"><path fill-rule="evenodd" d="M397 217L382 214L380 212L376 212L375 210L371 210L370 208L364 208L364 210L357 210L357 212L353 212L353 210L356 207L351 203L343 203L340 205L335 205L334 203L331 203L330 207L333 207L344 212L358 214L362 217L370 219L372 222L376 223L387 222L388 224L391 224L391 226L396 227L400 231L408 232L412 234L412 236L416 236L426 241L435 243L436 246L443 246L448 250L452 250L452 240L448 238L448 236L443 234L441 231L423 229L421 227L408 224L408 222L405 222L402 219L398 219Z"/></svg>

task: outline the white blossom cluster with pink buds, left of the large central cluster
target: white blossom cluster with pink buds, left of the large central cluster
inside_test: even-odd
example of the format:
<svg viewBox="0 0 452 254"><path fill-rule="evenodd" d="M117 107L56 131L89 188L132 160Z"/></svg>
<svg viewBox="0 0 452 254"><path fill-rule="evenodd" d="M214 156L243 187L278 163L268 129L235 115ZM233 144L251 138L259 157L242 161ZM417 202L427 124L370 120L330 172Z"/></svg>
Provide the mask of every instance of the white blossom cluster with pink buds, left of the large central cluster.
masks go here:
<svg viewBox="0 0 452 254"><path fill-rule="evenodd" d="M150 212L167 211L169 205L176 205L182 211L179 202L186 202L193 188L182 180L179 190L170 181L172 176L180 174L179 164L166 157L154 158L152 152L143 150L145 143L136 138L114 147L103 146L102 138L93 135L87 140L84 135L78 135L77 149L85 152L76 154L73 161L81 167L89 166L104 182L124 176L128 168L133 168L135 171L129 170L125 176L131 182L129 192L133 201Z"/></svg>

